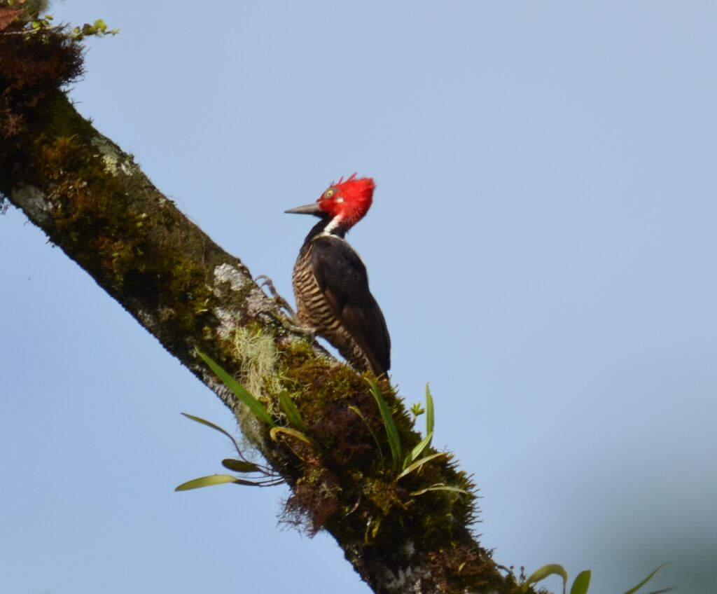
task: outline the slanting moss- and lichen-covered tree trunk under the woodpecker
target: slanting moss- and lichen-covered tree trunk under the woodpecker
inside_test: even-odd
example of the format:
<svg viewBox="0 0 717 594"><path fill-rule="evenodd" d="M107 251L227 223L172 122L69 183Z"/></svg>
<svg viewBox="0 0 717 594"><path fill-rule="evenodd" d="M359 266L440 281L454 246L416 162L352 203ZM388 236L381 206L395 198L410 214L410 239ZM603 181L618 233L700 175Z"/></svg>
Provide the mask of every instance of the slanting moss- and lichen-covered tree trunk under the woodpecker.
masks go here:
<svg viewBox="0 0 717 594"><path fill-rule="evenodd" d="M475 486L452 456L398 477L364 377L297 333L246 266L77 113L59 89L77 76L80 48L48 35L50 52L39 35L0 33L1 197L222 399L291 486L286 519L330 532L374 592L521 590L471 532ZM278 404L288 392L314 445L272 439L197 348L260 397L277 425L288 425ZM379 386L410 451L421 435L389 382Z"/></svg>

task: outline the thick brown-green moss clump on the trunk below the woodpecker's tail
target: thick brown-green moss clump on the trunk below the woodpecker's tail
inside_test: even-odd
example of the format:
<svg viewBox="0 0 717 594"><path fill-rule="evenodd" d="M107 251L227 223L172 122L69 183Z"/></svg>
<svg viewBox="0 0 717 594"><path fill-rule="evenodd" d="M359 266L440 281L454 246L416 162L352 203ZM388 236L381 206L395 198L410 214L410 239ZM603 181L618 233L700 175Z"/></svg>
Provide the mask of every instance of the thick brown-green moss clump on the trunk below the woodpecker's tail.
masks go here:
<svg viewBox="0 0 717 594"><path fill-rule="evenodd" d="M396 534L429 547L431 542L444 542L447 534L465 531L466 524L475 519L472 482L448 457L436 458L397 479L390 459L381 460L371 431L349 408L361 411L379 438L384 456L389 456L378 407L361 374L311 357L302 343L283 348L282 365L284 385L293 392L308 434L319 444L313 465L298 461L293 468L298 489L288 501L286 514L294 523L303 520L312 534L323 527L342 542L359 539L386 551L394 547ZM412 418L389 383L381 380L379 385L408 451L421 436L413 430ZM436 484L456 486L470 494L427 491L413 495Z"/></svg>

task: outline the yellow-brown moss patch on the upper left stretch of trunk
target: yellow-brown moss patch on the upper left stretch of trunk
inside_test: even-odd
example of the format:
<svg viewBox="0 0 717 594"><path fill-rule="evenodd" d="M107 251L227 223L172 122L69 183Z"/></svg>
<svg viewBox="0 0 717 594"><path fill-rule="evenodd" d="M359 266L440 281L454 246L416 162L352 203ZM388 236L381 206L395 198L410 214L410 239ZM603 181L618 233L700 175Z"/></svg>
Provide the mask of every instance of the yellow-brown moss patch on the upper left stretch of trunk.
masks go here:
<svg viewBox="0 0 717 594"><path fill-rule="evenodd" d="M107 279L110 292L141 296L158 308L163 322L188 331L204 327L212 302L206 271L162 227L156 216L161 213L144 212L130 201L132 178L116 168L131 173L131 157L109 144L93 144L91 126L62 96L50 100L42 114L44 133L29 151L41 164L34 171L39 185L52 189L50 239ZM108 147L123 159L120 164L109 162Z"/></svg>

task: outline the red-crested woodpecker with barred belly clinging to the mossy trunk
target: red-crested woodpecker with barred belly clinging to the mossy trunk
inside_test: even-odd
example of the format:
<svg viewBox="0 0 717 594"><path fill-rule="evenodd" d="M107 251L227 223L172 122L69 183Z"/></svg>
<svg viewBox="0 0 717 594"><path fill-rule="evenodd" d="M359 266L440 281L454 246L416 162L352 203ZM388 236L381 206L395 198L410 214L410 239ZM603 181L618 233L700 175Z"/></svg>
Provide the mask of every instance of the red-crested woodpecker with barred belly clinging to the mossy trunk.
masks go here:
<svg viewBox="0 0 717 594"><path fill-rule="evenodd" d="M380 375L391 367L389 331L369 291L364 260L343 238L369 211L375 187L370 177L353 174L331 184L316 202L285 212L320 218L294 265L299 321L333 344L353 367Z"/></svg>

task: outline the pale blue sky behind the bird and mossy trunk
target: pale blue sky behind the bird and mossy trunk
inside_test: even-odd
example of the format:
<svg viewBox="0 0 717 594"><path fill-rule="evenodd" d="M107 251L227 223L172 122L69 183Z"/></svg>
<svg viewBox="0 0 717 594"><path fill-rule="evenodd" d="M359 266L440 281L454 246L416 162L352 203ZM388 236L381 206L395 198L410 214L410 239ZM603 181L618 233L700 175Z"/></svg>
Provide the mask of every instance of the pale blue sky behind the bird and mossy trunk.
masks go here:
<svg viewBox="0 0 717 594"><path fill-rule="evenodd" d="M717 4L67 0L103 18L71 96L285 296L311 221L348 239L409 402L480 486L504 565L717 592ZM39 230L0 219L0 592L366 594L286 491L174 486L232 416ZM549 582L558 589L559 582Z"/></svg>

